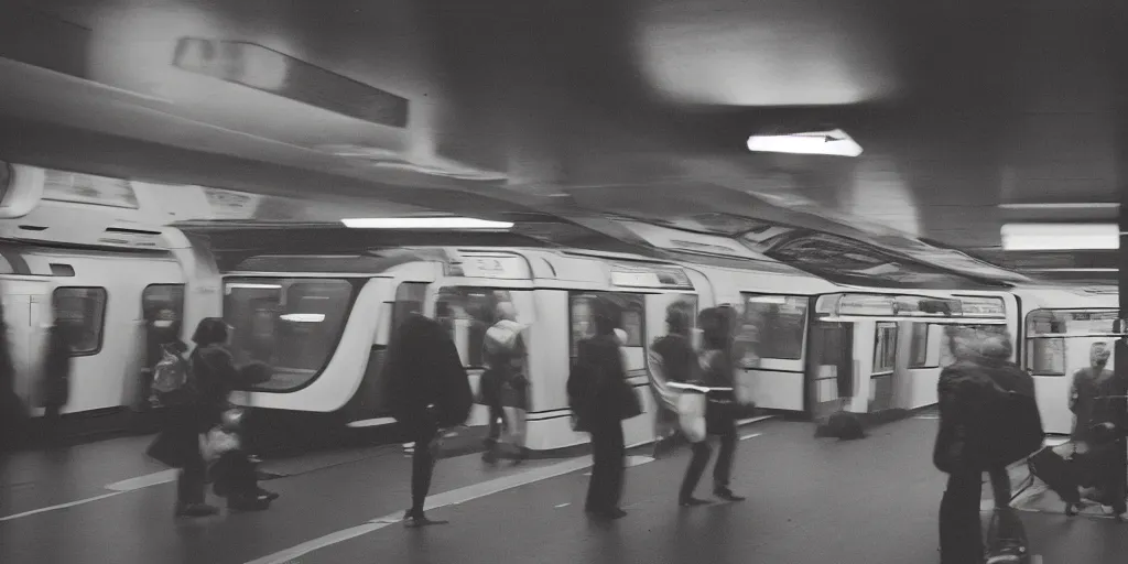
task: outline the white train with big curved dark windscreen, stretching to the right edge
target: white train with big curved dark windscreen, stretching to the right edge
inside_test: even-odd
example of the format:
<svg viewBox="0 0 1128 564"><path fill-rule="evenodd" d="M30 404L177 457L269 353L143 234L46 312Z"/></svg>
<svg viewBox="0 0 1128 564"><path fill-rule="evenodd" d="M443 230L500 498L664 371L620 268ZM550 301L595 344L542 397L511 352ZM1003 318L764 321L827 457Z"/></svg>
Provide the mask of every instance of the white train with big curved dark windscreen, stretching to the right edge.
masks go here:
<svg viewBox="0 0 1128 564"><path fill-rule="evenodd" d="M564 387L575 343L591 331L585 303L593 296L622 307L628 376L638 388L646 382L646 347L666 332L667 306L734 307L742 319L737 341L748 352L740 369L754 382L752 399L808 417L933 405L940 371L950 362L943 326L1005 328L1016 337L1014 360L1036 374L1054 433L1069 431L1068 374L1085 364L1085 342L1103 338L1116 317L1117 294L1108 289L846 287L700 233L651 240L681 246L681 258L668 261L552 248L505 235L475 245L470 233L449 232L396 233L395 245L381 250L372 243L390 233L347 229L344 239L312 248L352 245L356 254L294 254L285 250L293 248L287 237L312 235L287 231L275 249L226 259L211 274L221 291L210 294L222 294L222 305L211 308L235 327L237 356L275 367L274 379L239 394L239 403L259 412L333 414L326 421L335 424L390 423L379 379L396 320L409 311L440 319L476 385L482 338L496 303L509 301L527 326L528 446L535 450L587 440L571 429ZM1043 328L1047 323L1054 331ZM650 395L642 397L653 414ZM478 408L472 423L484 421ZM651 441L652 429L647 417L631 420L628 443Z"/></svg>

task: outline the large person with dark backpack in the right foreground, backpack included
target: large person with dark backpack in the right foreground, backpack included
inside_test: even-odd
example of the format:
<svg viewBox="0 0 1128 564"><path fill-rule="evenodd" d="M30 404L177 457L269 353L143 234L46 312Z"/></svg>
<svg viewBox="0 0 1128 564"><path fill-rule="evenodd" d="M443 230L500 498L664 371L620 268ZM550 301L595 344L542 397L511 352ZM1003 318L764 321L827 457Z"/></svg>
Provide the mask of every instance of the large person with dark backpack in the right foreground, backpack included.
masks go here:
<svg viewBox="0 0 1128 564"><path fill-rule="evenodd" d="M1029 372L1011 362L1010 336L953 327L949 343L955 362L940 376L940 430L933 450L937 469L949 475L940 505L942 564L1021 559L1022 522L1010 509L1006 467L1038 451L1045 439ZM979 522L982 474L995 497L993 546L985 552Z"/></svg>

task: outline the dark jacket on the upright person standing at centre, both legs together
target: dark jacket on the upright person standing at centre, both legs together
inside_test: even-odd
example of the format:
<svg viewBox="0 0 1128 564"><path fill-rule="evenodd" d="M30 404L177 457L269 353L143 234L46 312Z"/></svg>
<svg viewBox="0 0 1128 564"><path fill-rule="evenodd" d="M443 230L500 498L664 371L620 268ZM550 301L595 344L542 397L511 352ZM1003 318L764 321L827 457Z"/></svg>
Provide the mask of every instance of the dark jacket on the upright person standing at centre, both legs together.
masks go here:
<svg viewBox="0 0 1128 564"><path fill-rule="evenodd" d="M567 395L578 430L618 424L635 415L634 389L627 384L619 345L615 335L597 335L576 346Z"/></svg>

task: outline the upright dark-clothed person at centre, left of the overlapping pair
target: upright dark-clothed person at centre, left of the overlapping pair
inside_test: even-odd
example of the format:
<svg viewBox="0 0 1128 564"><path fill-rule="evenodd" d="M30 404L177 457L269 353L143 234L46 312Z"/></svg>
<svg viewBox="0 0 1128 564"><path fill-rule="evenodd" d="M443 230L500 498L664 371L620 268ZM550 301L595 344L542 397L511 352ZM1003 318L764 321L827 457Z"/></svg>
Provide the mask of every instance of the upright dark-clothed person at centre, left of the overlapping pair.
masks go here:
<svg viewBox="0 0 1128 564"><path fill-rule="evenodd" d="M623 421L638 415L641 409L626 380L615 335L619 323L615 306L598 298L589 307L596 335L578 344L575 365L567 380L569 403L576 431L591 433L593 465L584 509L592 517L619 519L627 514L619 508L626 469Z"/></svg>

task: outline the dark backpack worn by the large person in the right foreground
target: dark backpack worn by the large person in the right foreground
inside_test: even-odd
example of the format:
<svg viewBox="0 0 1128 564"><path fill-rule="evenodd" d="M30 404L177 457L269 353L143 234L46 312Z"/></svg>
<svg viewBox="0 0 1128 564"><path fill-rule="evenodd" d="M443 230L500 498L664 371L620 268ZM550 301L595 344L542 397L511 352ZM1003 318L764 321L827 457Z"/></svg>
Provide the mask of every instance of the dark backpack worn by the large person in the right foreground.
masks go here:
<svg viewBox="0 0 1128 564"><path fill-rule="evenodd" d="M1017 367L987 369L993 386L984 413L982 433L987 462L1011 465L1042 448L1046 432L1034 379Z"/></svg>

